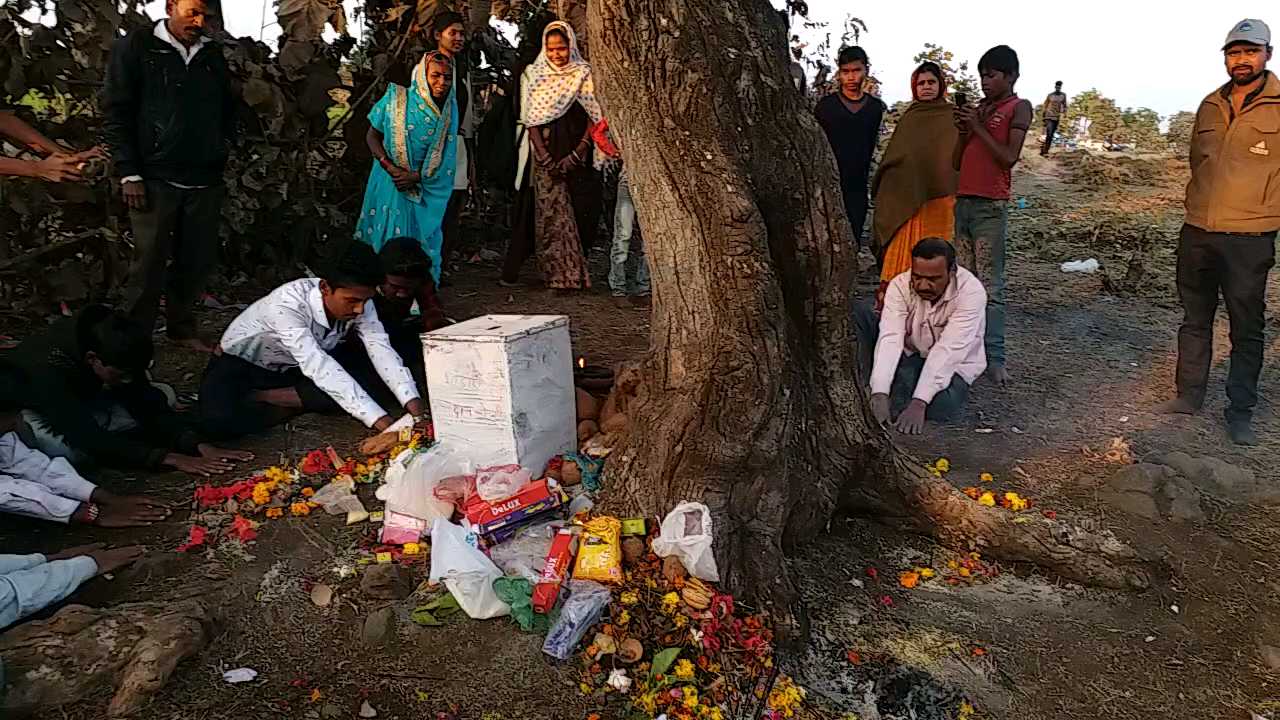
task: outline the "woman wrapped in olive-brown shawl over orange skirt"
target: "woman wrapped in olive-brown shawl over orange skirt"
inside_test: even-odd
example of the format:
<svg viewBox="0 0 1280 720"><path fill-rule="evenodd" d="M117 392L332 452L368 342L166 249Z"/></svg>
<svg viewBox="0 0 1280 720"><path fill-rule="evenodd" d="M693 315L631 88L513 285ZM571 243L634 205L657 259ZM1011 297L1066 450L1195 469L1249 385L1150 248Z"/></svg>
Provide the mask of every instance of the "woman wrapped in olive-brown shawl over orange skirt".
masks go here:
<svg viewBox="0 0 1280 720"><path fill-rule="evenodd" d="M946 79L936 63L911 73L914 102L902 113L872 182L876 197L876 246L881 247L881 284L911 269L911 250L927 237L955 234L956 176L951 151L959 132L946 100Z"/></svg>

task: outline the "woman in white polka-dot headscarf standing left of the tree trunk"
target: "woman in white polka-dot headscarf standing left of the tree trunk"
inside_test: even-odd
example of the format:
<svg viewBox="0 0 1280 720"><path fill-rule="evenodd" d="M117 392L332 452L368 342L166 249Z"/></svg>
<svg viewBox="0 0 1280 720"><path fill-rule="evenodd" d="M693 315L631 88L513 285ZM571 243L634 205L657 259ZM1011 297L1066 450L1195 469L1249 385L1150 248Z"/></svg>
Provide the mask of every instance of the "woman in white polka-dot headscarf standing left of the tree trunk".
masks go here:
<svg viewBox="0 0 1280 720"><path fill-rule="evenodd" d="M591 152L591 128L599 122L591 67L577 51L573 28L553 22L543 31L541 53L521 76L516 188L534 193L534 246L554 290L591 287L585 250L600 218Z"/></svg>

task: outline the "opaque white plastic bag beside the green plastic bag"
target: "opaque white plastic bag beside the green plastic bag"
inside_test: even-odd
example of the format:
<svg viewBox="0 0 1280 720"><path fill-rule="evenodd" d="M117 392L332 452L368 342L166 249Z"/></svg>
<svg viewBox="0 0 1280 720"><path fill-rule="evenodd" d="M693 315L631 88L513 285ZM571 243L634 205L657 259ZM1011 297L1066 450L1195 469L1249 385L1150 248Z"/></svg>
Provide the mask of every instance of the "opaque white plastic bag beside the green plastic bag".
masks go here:
<svg viewBox="0 0 1280 720"><path fill-rule="evenodd" d="M511 607L498 600L493 582L502 570L480 552L474 534L462 525L436 519L431 527L431 582L444 580L458 607L476 620L502 618Z"/></svg>

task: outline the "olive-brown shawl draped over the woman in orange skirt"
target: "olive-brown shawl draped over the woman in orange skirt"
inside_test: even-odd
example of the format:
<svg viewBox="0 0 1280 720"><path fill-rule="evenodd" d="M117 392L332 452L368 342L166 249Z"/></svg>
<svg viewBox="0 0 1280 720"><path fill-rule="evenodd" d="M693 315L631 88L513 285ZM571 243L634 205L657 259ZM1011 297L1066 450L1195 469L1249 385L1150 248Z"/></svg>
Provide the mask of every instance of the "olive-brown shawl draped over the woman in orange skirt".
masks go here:
<svg viewBox="0 0 1280 720"><path fill-rule="evenodd" d="M872 181L876 199L872 240L882 254L920 206L934 197L955 195L951 154L959 137L954 106L946 100L913 102L902 111Z"/></svg>

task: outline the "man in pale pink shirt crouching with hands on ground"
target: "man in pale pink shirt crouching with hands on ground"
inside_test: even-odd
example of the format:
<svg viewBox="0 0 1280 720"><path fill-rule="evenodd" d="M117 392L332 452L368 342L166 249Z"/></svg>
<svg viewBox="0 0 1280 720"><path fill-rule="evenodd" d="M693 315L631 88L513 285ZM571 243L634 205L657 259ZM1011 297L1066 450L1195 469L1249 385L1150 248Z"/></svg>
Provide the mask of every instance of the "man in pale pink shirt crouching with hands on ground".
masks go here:
<svg viewBox="0 0 1280 720"><path fill-rule="evenodd" d="M915 246L911 269L888 283L878 327L869 305L859 306L854 320L872 411L882 424L896 415L901 433L919 434L925 419L948 419L987 369L987 291L956 265L945 240Z"/></svg>

